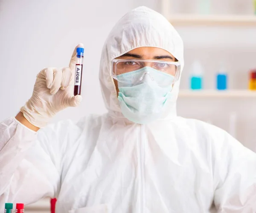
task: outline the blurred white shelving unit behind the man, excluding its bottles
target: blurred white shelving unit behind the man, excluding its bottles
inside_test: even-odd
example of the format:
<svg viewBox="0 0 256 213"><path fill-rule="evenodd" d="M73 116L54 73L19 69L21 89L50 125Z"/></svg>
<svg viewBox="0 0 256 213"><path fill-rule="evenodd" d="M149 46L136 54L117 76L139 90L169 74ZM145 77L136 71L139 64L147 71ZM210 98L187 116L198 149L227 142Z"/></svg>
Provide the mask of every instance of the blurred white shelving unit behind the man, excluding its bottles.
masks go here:
<svg viewBox="0 0 256 213"><path fill-rule="evenodd" d="M164 0L163 10L184 41L178 115L197 118L230 132L256 151L256 93L248 91L256 68L256 15L253 0ZM186 93L195 60L203 68L203 91ZM216 75L225 70L226 95L216 90ZM239 91L236 91L239 90ZM185 93L184 93L185 91ZM236 96L239 92L240 95ZM234 97L236 96L236 97Z"/></svg>

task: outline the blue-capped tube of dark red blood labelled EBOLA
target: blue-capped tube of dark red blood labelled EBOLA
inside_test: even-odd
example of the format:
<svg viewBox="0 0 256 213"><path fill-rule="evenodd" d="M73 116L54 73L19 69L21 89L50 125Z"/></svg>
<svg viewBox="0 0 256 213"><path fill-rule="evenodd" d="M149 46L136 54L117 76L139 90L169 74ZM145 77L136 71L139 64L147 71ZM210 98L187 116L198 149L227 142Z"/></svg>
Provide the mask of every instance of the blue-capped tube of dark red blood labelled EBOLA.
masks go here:
<svg viewBox="0 0 256 213"><path fill-rule="evenodd" d="M83 60L84 60L84 48L78 47L76 48L74 95L81 95Z"/></svg>

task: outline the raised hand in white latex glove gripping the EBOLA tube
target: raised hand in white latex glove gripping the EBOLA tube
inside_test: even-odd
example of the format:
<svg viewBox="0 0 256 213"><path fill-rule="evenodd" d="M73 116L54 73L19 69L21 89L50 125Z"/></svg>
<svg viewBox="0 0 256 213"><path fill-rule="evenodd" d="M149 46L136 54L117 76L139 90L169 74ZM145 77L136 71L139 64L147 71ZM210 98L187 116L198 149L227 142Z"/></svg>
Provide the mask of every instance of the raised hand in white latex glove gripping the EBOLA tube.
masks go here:
<svg viewBox="0 0 256 213"><path fill-rule="evenodd" d="M80 43L77 47L84 45ZM57 112L80 104L81 95L73 95L76 48L69 67L45 68L38 73L32 97L20 109L34 126L44 127Z"/></svg>

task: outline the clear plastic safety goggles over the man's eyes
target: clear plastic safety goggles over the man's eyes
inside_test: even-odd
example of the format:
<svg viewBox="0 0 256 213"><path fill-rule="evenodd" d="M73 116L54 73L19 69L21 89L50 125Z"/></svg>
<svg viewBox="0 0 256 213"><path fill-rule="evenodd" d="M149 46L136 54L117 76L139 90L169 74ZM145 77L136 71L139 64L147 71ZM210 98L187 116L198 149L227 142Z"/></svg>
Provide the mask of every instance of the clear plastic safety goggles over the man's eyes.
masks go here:
<svg viewBox="0 0 256 213"><path fill-rule="evenodd" d="M144 67L151 67L155 71L164 73L165 75L171 75L172 82L175 83L180 77L180 62L171 62L164 60L142 60L142 59L113 59L112 60L112 77L119 82L125 81L125 75L133 74ZM145 69L147 70L147 69ZM147 73L150 75L150 73ZM133 83L142 80L145 73L140 72L140 75L133 75ZM122 76L122 78L119 78ZM153 78L152 78L153 79ZM124 82L122 82L124 83Z"/></svg>

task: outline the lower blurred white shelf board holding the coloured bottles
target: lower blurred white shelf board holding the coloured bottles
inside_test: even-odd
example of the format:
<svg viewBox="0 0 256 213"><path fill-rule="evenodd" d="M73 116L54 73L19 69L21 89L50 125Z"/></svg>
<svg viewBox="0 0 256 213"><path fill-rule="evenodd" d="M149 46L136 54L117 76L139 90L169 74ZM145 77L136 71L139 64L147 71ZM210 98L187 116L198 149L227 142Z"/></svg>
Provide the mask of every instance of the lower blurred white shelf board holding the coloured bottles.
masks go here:
<svg viewBox="0 0 256 213"><path fill-rule="evenodd" d="M179 97L198 98L256 98L256 91L250 90L180 90ZM255 99L256 100L256 99Z"/></svg>

